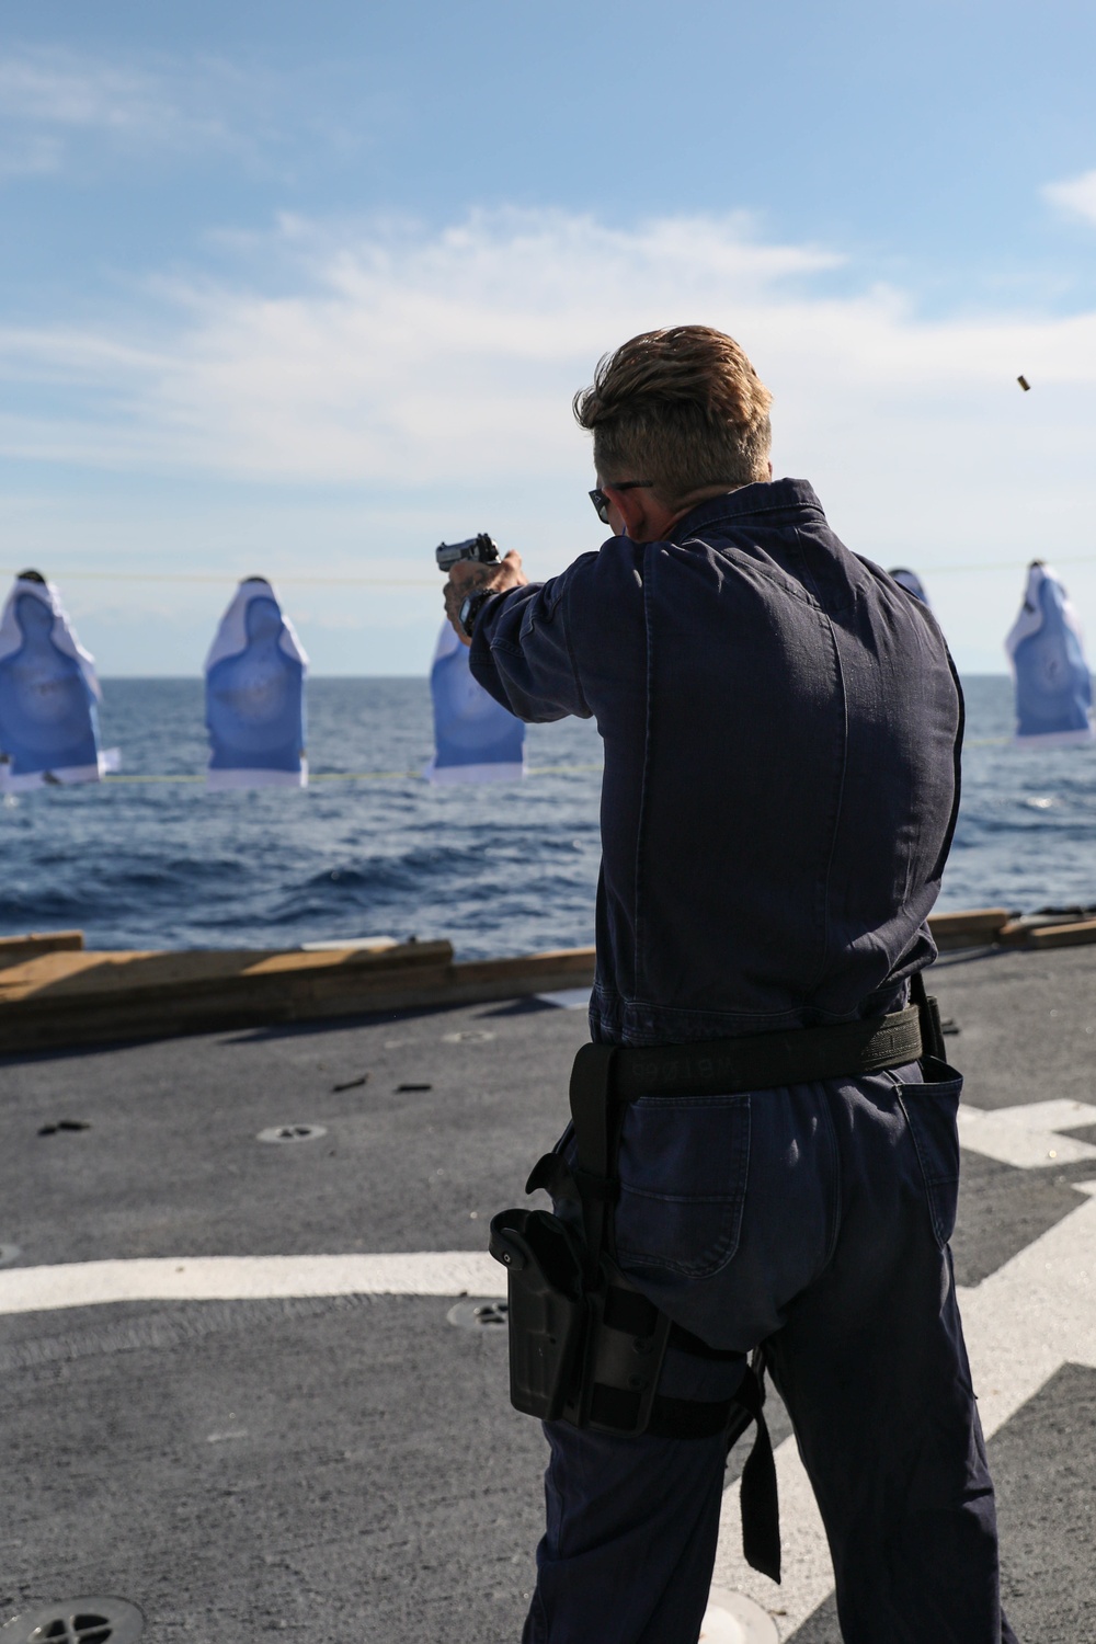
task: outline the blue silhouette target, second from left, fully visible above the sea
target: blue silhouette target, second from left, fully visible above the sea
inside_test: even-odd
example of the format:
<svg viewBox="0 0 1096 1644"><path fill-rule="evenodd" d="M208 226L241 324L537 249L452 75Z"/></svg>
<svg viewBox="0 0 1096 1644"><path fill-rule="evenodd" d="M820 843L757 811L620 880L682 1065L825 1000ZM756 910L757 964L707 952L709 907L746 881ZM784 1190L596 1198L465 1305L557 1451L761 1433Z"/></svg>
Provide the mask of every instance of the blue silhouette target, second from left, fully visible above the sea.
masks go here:
<svg viewBox="0 0 1096 1644"><path fill-rule="evenodd" d="M269 582L242 582L205 658L209 787L307 784L307 663Z"/></svg>

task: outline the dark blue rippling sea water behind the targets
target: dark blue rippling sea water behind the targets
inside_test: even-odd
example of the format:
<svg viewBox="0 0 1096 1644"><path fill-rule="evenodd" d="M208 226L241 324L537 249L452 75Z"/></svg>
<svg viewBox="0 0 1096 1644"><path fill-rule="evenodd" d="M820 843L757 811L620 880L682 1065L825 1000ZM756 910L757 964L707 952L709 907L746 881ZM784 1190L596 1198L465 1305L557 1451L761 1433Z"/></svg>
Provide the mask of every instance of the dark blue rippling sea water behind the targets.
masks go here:
<svg viewBox="0 0 1096 1644"><path fill-rule="evenodd" d="M0 932L89 947L292 947L449 937L462 957L593 940L600 741L529 728L523 784L435 789L417 679L309 684L312 786L207 794L202 682L104 686L122 779L0 807ZM968 679L965 799L942 907L1096 903L1096 750L1009 746L1011 684ZM544 769L554 768L554 769Z"/></svg>

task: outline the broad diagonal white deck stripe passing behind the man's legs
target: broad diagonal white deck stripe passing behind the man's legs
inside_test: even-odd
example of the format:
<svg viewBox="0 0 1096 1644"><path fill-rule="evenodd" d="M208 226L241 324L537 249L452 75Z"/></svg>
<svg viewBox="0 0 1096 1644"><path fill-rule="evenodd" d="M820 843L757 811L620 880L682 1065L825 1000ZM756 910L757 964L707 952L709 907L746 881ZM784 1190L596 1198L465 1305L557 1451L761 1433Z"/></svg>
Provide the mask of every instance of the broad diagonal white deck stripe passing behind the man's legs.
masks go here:
<svg viewBox="0 0 1096 1644"><path fill-rule="evenodd" d="M1096 1182L1075 1182L1096 1195ZM1063 1365L1096 1369L1096 1197L1022 1249L974 1289L960 1291L978 1409L989 1438ZM833 1591L833 1565L795 1440L776 1452L784 1582L776 1586L741 1554L738 1488L723 1498L718 1586L746 1593L790 1637Z"/></svg>

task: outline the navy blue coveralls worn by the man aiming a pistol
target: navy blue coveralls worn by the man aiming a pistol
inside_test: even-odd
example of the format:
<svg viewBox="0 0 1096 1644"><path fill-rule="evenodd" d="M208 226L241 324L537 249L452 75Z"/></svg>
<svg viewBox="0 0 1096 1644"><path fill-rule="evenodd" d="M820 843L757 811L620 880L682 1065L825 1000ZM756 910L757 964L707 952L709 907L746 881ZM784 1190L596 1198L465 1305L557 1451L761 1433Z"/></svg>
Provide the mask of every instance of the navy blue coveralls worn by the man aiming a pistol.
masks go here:
<svg viewBox="0 0 1096 1644"><path fill-rule="evenodd" d="M810 485L748 485L490 600L472 671L521 718L596 718L596 1041L905 1003L935 958L961 697L932 615ZM621 1266L710 1346L764 1343L846 1644L1014 1644L946 1243L961 1080L930 1069L647 1097L623 1128ZM741 1363L672 1351L661 1391L725 1397ZM526 1644L695 1644L723 1440L546 1432Z"/></svg>

